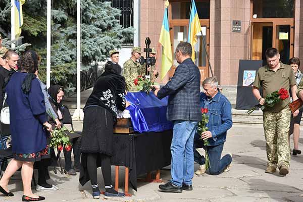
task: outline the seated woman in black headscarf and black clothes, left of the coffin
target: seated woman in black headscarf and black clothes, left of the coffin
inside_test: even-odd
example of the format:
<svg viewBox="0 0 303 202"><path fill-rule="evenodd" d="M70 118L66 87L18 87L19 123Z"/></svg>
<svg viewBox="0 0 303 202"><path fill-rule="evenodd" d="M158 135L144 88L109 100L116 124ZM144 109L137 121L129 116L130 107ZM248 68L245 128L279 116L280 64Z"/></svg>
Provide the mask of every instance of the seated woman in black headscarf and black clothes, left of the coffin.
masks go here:
<svg viewBox="0 0 303 202"><path fill-rule="evenodd" d="M63 120L64 118L64 106L62 105L62 99L64 97L64 88L61 85L53 85L47 90L49 94L49 103L51 103L55 113L57 114L58 118L60 121ZM52 117L51 117L52 118ZM54 124L56 123L54 119L51 119ZM80 135L78 133L68 133L67 135L70 138L70 141L72 143L72 148L73 148L73 153L74 153L74 160L75 160L75 165L74 168L72 167L72 150L63 150L64 153L64 159L65 159L65 173L69 175L76 175L76 171L80 172Z"/></svg>

